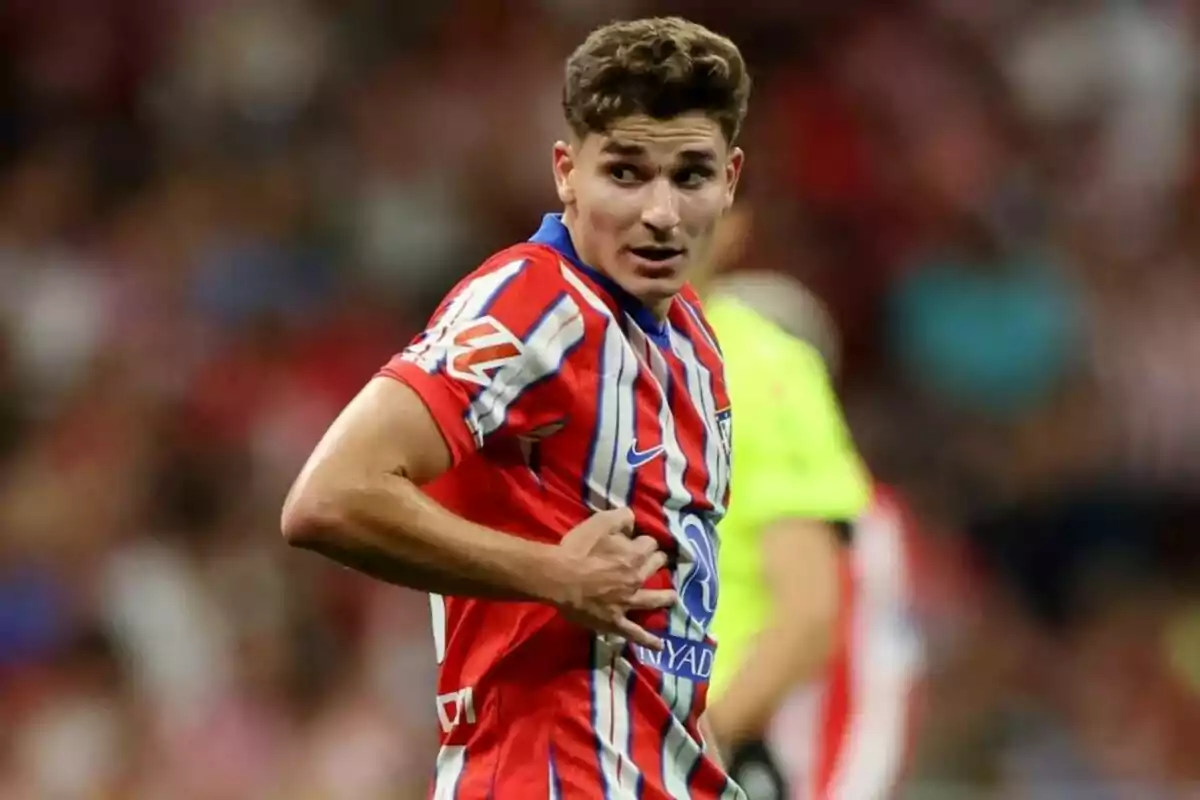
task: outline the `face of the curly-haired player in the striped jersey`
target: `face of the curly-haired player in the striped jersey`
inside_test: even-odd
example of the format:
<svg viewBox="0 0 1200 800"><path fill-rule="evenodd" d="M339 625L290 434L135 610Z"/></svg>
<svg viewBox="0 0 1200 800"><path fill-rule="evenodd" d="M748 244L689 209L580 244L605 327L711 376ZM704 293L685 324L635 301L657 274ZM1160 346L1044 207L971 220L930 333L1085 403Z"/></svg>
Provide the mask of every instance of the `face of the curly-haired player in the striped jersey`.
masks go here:
<svg viewBox="0 0 1200 800"><path fill-rule="evenodd" d="M664 314L707 263L742 160L703 114L630 116L559 142L554 179L580 257Z"/></svg>

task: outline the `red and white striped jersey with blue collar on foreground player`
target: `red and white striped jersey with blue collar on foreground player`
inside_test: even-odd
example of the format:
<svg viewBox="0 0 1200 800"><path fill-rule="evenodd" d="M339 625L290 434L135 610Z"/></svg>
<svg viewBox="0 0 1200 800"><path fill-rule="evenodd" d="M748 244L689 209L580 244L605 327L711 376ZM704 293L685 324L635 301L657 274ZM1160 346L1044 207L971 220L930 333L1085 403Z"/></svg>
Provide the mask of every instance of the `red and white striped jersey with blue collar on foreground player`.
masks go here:
<svg viewBox="0 0 1200 800"><path fill-rule="evenodd" d="M648 652L548 606L432 597L438 800L743 798L706 754L716 522L730 485L720 351L689 289L661 320L584 265L559 217L488 259L384 368L428 405L456 513L557 543L628 506L679 602L637 621Z"/></svg>

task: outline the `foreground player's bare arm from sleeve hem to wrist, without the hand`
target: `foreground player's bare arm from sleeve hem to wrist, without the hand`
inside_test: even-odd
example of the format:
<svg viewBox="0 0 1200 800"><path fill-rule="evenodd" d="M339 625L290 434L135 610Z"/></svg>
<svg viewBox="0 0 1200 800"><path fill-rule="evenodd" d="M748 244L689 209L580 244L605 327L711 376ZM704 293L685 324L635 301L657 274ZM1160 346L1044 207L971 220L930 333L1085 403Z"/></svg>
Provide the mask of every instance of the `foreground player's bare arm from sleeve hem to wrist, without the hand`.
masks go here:
<svg viewBox="0 0 1200 800"><path fill-rule="evenodd" d="M342 411L288 493L288 543L422 591L554 602L556 551L462 519L420 485L450 468L425 403L376 378Z"/></svg>

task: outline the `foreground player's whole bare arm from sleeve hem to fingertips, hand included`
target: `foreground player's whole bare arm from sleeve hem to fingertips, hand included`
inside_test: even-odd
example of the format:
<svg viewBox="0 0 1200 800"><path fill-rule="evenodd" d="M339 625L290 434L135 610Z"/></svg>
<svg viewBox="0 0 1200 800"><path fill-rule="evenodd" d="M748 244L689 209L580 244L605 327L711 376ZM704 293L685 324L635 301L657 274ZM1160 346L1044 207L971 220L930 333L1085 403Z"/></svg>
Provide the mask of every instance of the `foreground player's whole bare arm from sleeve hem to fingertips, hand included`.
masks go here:
<svg viewBox="0 0 1200 800"><path fill-rule="evenodd" d="M661 649L626 616L665 608L674 593L644 589L666 563L634 515L594 515L559 545L476 525L420 485L445 473L450 452L425 403L406 384L376 378L310 456L283 505L283 536L379 581L443 595L527 600L600 632Z"/></svg>

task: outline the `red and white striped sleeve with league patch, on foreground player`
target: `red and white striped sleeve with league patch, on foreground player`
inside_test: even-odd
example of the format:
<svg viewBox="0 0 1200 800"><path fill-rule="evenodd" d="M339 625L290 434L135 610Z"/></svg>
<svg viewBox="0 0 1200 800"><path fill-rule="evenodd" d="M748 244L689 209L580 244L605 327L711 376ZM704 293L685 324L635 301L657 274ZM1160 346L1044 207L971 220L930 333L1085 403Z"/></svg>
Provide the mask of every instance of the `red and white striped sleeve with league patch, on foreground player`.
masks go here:
<svg viewBox="0 0 1200 800"><path fill-rule="evenodd" d="M461 283L380 371L425 402L455 463L559 420L584 319L548 264L518 258Z"/></svg>

